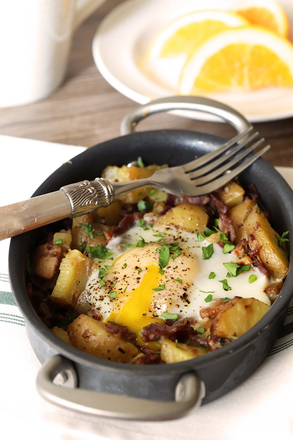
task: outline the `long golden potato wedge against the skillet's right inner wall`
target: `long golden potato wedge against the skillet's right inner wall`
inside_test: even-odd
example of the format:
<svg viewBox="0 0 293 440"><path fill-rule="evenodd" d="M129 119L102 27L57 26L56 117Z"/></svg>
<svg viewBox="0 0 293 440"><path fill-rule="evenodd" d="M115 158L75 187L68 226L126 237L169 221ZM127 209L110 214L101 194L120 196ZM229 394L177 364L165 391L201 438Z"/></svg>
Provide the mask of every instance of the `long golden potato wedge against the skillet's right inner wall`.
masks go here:
<svg viewBox="0 0 293 440"><path fill-rule="evenodd" d="M284 279L288 273L289 262L286 252L278 246L279 234L271 227L263 213L254 206L244 227L248 235L250 249L259 249L257 256L273 279ZM252 234L255 239L249 235Z"/></svg>

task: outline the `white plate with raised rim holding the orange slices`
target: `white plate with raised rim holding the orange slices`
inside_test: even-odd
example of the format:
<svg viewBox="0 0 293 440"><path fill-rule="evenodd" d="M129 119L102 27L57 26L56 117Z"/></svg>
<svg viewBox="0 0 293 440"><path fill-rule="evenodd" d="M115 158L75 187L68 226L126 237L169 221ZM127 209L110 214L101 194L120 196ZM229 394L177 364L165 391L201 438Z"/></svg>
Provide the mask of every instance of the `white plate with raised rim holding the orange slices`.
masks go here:
<svg viewBox="0 0 293 440"><path fill-rule="evenodd" d="M113 9L99 26L93 40L94 62L116 90L137 103L173 96L171 88L160 86L138 67L152 36L179 15L195 9L230 9L235 0L128 0ZM293 1L279 0L293 29ZM213 93L208 96L226 103L251 122L293 116L293 88L267 88L245 93ZM177 114L183 114L177 112ZM198 112L184 116L216 121Z"/></svg>

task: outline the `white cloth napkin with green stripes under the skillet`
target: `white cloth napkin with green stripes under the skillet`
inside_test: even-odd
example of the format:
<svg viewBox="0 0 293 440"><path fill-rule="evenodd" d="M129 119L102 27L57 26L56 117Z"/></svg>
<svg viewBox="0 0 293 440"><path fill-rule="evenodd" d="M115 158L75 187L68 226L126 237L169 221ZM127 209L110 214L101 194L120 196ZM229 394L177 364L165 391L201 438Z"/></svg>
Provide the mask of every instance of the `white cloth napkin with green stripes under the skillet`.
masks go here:
<svg viewBox="0 0 293 440"><path fill-rule="evenodd" d="M63 162L84 150L0 136L0 206L29 198ZM293 170L279 168L293 187ZM9 240L0 242L0 437L30 440L247 440L293 437L293 301L283 333L265 362L220 399L169 422L129 422L75 413L36 392L40 363L8 282Z"/></svg>

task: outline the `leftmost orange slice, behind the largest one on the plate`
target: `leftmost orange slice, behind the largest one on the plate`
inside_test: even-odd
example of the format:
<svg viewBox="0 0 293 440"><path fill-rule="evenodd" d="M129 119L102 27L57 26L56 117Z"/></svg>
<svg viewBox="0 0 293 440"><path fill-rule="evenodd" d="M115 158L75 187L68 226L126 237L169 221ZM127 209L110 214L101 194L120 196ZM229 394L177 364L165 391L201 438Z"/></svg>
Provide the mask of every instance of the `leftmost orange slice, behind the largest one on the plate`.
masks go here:
<svg viewBox="0 0 293 440"><path fill-rule="evenodd" d="M233 27L246 26L245 18L233 12L196 11L171 22L151 41L146 58L187 57L207 38Z"/></svg>

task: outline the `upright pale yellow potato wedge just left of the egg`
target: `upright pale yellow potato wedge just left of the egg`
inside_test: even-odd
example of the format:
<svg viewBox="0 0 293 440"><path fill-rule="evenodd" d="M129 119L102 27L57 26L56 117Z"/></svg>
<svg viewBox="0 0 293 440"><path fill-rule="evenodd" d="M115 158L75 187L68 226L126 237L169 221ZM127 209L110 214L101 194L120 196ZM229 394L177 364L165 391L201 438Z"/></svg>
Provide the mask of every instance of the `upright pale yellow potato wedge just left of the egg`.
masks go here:
<svg viewBox="0 0 293 440"><path fill-rule="evenodd" d="M60 274L51 294L51 300L61 305L76 307L80 293L98 265L77 249L69 249L60 264Z"/></svg>

